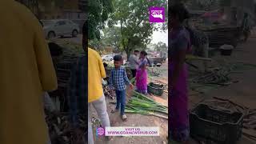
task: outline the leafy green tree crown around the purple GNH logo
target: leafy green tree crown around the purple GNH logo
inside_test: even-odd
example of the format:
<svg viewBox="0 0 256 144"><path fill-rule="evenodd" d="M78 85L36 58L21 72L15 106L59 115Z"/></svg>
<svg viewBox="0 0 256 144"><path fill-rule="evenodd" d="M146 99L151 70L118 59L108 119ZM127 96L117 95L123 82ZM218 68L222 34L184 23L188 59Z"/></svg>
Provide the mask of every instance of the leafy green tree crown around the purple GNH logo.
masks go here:
<svg viewBox="0 0 256 144"><path fill-rule="evenodd" d="M115 10L113 14L110 14L108 26L120 26L121 46L128 57L136 47L146 47L150 43L150 36L154 30L167 29L166 23L157 25L149 22L150 6L164 6L166 8L167 21L166 0L116 0L114 6Z"/></svg>

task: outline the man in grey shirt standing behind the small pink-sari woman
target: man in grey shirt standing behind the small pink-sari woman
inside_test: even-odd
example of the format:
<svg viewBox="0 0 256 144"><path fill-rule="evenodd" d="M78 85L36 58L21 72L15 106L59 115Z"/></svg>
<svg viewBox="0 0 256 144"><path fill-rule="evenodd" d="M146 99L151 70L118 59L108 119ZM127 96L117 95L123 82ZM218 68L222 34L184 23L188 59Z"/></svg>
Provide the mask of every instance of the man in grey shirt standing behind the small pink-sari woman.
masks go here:
<svg viewBox="0 0 256 144"><path fill-rule="evenodd" d="M133 74L133 78L136 77L136 71L138 69L138 54L139 54L139 51L138 50L134 50L134 54L131 54L130 55L130 58L129 58L129 63L130 63L130 70Z"/></svg>

